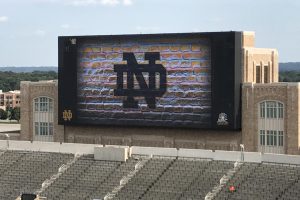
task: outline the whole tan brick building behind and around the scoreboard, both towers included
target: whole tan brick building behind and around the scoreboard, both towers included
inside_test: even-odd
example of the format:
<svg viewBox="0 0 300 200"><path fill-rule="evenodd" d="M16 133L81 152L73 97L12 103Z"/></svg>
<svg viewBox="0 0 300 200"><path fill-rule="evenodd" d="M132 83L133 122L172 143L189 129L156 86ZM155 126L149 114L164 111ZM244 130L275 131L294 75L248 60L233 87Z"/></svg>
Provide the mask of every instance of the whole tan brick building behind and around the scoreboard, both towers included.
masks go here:
<svg viewBox="0 0 300 200"><path fill-rule="evenodd" d="M62 126L57 124L57 82L22 82L21 139L213 150L239 150L244 144L246 151L299 154L299 84L278 83L277 50L254 43L254 33L243 32L240 131Z"/></svg>

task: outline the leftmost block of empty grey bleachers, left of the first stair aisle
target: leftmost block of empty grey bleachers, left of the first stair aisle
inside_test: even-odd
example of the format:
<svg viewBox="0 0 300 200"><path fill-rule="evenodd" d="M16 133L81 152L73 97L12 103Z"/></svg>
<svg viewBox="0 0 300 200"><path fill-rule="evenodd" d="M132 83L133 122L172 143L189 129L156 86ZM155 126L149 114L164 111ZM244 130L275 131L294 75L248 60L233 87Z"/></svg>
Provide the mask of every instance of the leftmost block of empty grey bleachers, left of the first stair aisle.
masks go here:
<svg viewBox="0 0 300 200"><path fill-rule="evenodd" d="M5 151L0 156L0 199L16 199L20 193L33 193L59 166L74 155Z"/></svg>

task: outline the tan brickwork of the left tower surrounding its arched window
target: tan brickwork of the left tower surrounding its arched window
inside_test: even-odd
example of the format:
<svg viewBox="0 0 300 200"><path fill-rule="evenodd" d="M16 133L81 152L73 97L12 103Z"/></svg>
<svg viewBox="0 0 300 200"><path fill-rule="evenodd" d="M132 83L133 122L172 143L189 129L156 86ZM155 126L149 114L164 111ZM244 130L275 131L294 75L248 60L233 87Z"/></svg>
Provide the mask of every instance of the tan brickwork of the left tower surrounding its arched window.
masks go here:
<svg viewBox="0 0 300 200"><path fill-rule="evenodd" d="M46 96L54 102L54 141L63 140L62 127L57 124L58 88L57 81L29 82L22 81L21 85L21 140L33 140L33 100Z"/></svg>

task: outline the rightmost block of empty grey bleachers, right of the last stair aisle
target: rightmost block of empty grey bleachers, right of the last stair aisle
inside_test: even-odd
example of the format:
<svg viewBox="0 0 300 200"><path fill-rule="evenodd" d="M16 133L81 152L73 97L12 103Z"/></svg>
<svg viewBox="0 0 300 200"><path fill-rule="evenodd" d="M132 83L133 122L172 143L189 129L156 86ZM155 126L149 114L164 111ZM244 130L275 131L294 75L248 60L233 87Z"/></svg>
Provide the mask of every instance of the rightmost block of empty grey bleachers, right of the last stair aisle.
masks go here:
<svg viewBox="0 0 300 200"><path fill-rule="evenodd" d="M299 178L300 166L244 163L216 199L299 199Z"/></svg>

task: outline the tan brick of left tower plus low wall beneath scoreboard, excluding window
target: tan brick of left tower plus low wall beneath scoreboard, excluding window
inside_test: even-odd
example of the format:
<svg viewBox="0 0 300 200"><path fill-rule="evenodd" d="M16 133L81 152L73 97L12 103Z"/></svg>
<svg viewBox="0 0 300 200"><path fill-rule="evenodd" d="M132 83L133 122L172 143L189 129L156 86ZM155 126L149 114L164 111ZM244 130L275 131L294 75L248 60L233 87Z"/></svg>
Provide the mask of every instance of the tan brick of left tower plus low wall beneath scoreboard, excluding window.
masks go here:
<svg viewBox="0 0 300 200"><path fill-rule="evenodd" d="M54 141L136 145L153 147L184 147L238 150L241 132L199 129L121 127L121 126L62 126L57 125L57 82L21 83L21 140L33 140L33 99L47 96L54 99Z"/></svg>

